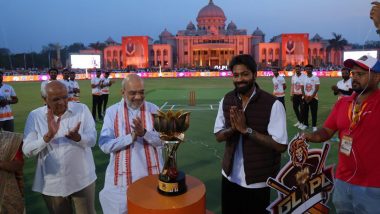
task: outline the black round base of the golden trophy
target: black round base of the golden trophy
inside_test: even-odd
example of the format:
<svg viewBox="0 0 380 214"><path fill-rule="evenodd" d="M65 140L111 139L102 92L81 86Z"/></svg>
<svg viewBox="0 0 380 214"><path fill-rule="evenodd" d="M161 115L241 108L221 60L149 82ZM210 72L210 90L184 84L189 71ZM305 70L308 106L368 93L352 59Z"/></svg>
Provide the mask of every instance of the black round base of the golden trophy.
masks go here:
<svg viewBox="0 0 380 214"><path fill-rule="evenodd" d="M161 180L160 176L158 176L157 191L161 195L166 196L176 196L184 194L187 191L185 173L179 171L177 178L175 180L170 181L163 181Z"/></svg>

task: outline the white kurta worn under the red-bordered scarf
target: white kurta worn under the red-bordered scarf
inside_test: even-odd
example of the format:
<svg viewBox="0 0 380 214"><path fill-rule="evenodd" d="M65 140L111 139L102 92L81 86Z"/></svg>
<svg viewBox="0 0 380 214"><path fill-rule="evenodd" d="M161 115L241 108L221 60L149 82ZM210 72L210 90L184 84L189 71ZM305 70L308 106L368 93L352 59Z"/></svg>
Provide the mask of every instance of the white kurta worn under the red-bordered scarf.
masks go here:
<svg viewBox="0 0 380 214"><path fill-rule="evenodd" d="M105 214L126 213L128 183L133 183L149 175L148 165L150 165L150 173L152 174L158 174L163 167L162 144L159 139L159 133L153 130L151 115L152 113L157 113L158 107L150 102L144 102L145 112L140 111L140 109L128 108L130 129L133 130L132 119L141 118L141 114L145 114L145 128L147 130L144 137L138 137L136 141L132 141L131 134L124 131L126 130L126 123L123 121L124 103L124 100L122 100L107 109L99 137L101 150L106 154L110 154L104 188L99 193L99 200ZM119 130L118 137L115 135L117 112L119 118L118 122L116 122ZM144 144L147 146L144 147ZM130 156L127 155L127 146L130 146ZM120 151L119 157L116 155L118 151ZM147 159L147 151L149 151L149 160ZM115 164L115 160L118 160L117 164ZM131 177L127 176L128 163L130 163ZM115 169L115 165L117 169ZM116 179L115 175L117 175Z"/></svg>

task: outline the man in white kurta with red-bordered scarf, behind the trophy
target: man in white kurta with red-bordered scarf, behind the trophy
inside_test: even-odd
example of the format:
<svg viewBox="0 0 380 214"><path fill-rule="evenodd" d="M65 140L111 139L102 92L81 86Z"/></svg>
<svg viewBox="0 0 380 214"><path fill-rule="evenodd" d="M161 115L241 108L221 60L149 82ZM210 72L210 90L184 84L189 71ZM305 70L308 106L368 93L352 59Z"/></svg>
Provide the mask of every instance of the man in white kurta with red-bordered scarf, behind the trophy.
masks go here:
<svg viewBox="0 0 380 214"><path fill-rule="evenodd" d="M144 100L142 79L128 75L122 93L123 99L107 109L99 137L101 150L110 154L104 188L99 193L105 214L127 213L128 186L160 173L163 165L162 145L152 119L158 107Z"/></svg>

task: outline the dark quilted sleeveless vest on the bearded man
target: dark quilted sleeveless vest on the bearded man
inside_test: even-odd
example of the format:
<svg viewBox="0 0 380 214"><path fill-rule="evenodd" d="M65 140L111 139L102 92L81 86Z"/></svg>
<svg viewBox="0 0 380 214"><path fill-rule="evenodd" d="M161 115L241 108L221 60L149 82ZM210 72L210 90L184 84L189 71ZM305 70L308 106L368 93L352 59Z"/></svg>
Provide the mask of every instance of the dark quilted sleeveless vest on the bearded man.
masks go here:
<svg viewBox="0 0 380 214"><path fill-rule="evenodd" d="M245 109L247 126L261 134L268 135L268 124L271 110L276 98L261 90L256 85L256 94L249 101ZM242 102L236 91L228 92L223 100L223 113L226 128L231 127L230 107L242 106ZM231 136L225 144L222 167L227 175L230 175L233 167L233 160L239 133ZM243 136L243 161L245 180L247 184L266 182L268 177L275 177L280 169L281 153L269 147L261 146L255 141Z"/></svg>

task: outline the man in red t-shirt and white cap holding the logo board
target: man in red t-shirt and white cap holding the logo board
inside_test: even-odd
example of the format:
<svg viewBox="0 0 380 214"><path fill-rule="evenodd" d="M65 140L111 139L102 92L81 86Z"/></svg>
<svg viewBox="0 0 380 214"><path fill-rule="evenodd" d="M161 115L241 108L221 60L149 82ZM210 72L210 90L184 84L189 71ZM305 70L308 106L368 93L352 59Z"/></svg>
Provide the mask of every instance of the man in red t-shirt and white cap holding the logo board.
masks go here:
<svg viewBox="0 0 380 214"><path fill-rule="evenodd" d="M380 213L380 61L362 56L344 65L352 69L354 93L338 100L321 129L302 136L324 142L339 133L337 213Z"/></svg>

